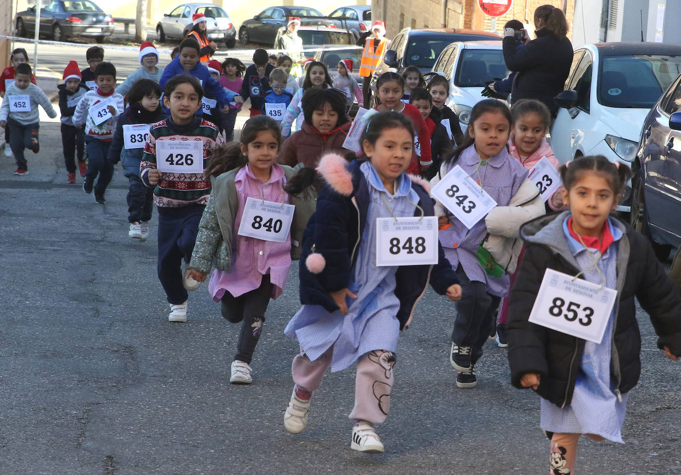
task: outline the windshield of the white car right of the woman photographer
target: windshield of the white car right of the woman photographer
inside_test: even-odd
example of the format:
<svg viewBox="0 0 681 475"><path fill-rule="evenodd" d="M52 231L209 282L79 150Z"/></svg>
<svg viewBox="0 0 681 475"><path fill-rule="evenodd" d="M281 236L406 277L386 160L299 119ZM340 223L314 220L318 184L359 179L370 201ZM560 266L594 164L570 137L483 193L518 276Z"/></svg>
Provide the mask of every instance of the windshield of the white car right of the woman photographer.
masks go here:
<svg viewBox="0 0 681 475"><path fill-rule="evenodd" d="M603 57L598 102L607 107L649 109L679 74L681 56Z"/></svg>

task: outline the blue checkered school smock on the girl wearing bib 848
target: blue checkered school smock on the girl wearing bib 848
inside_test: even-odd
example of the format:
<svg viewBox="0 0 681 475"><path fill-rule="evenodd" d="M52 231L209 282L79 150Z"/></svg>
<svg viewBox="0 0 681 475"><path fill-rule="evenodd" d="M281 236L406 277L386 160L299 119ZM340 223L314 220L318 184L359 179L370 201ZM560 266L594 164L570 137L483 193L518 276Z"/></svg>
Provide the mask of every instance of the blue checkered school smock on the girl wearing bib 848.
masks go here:
<svg viewBox="0 0 681 475"><path fill-rule="evenodd" d="M370 204L349 286L358 298L348 298L347 315L340 310L329 313L321 305L303 305L284 330L287 337L298 339L312 361L333 345L331 371L347 368L372 350L396 352L400 333L400 301L395 296L398 266L376 266L376 219L413 216L419 197L406 174L391 195L370 162L364 162L360 170L366 177Z"/></svg>

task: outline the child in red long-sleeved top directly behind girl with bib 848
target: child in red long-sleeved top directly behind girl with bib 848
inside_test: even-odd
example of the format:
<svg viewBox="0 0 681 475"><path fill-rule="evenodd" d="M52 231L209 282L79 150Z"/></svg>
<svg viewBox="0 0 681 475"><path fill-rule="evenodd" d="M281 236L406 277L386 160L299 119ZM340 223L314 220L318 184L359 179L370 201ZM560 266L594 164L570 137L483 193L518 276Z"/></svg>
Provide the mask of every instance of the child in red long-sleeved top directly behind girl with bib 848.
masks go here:
<svg viewBox="0 0 681 475"><path fill-rule="evenodd" d="M423 174L432 164L430 155L430 132L421 112L411 104L402 102L405 93L405 80L397 73L385 72L376 81L376 97L380 104L374 109L379 112L394 110L402 112L411 121L415 131L415 145L413 147L411 164L407 168L408 174Z"/></svg>

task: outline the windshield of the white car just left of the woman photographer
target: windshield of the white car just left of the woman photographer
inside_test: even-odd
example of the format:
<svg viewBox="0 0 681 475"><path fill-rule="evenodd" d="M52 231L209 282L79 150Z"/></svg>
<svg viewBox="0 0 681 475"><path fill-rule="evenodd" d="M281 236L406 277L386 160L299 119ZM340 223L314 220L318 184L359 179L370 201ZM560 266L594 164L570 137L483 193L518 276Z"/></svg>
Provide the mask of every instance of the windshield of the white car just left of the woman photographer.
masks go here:
<svg viewBox="0 0 681 475"><path fill-rule="evenodd" d="M485 87L493 79L509 74L502 50L469 50L462 52L456 67L454 84L460 87Z"/></svg>

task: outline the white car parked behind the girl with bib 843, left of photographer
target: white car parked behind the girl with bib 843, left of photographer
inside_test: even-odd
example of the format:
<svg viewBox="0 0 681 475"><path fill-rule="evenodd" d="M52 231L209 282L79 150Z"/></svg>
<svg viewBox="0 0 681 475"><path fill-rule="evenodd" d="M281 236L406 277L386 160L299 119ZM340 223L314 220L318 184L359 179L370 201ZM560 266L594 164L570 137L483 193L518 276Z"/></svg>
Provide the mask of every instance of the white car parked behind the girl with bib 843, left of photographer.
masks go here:
<svg viewBox="0 0 681 475"><path fill-rule="evenodd" d="M454 42L442 50L432 71L449 81L448 106L459 117L462 132L468 128L473 106L485 99L480 93L488 82L509 74L499 41Z"/></svg>

